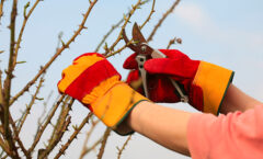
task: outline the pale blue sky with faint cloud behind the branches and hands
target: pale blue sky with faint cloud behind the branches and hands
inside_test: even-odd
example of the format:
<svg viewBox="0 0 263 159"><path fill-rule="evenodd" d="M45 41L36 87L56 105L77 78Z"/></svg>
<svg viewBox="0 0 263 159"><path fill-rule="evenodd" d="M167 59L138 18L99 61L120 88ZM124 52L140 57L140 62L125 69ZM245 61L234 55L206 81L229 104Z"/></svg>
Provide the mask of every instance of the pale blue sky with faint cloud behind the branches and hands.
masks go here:
<svg viewBox="0 0 263 159"><path fill-rule="evenodd" d="M26 1L19 1L18 24L21 25L23 11L21 10ZM34 1L31 1L32 3ZM47 96L50 90L56 89L56 83L60 79L61 70L67 67L71 60L87 52L93 52L102 39L103 35L115 24L128 8L136 3L135 0L111 0L100 1L94 7L91 16L87 21L88 31L81 33L62 55L49 68L45 81L45 89L42 91L43 96ZM157 0L156 13L150 22L144 27L142 33L148 36L155 24L162 16L162 13L173 3L171 0ZM1 69L7 66L7 55L9 50L9 12L11 0L5 2L5 14L0 25L0 50L7 50L0 55ZM70 1L70 0L45 0L39 3L24 33L24 41L20 50L19 60L26 60L26 64L19 65L15 70L12 93L19 91L28 79L39 69L39 65L44 65L54 54L57 45L57 35L64 33L62 39L67 39L72 35L73 31L80 24L82 15L88 9L88 0ZM142 7L132 18L132 22L141 24L148 16L151 3ZM172 48L181 49L191 58L202 59L214 63L236 71L233 83L241 88L248 94L263 101L263 1L262 0L182 0L174 12L165 20L158 30L153 41L150 43L156 48L164 48L169 41L174 36L183 39L182 45L174 45ZM130 27L127 26L127 33L130 35ZM18 26L18 29L19 29ZM111 45L116 38L119 29L107 39ZM122 43L121 43L122 44ZM101 50L103 52L103 50ZM123 75L123 79L127 76L127 70L122 68L124 59L130 55L129 49L124 50L121 55L110 58L111 63ZM28 99L20 100L13 106L14 112L23 110ZM168 104L165 104L168 105ZM185 104L169 104L176 109L194 112ZM33 121L27 124L22 135L34 133L34 118L41 114L42 104L36 104L30 118ZM76 103L72 112L72 121L79 123L89 111ZM14 113L14 116L18 115ZM85 128L87 129L87 128ZM98 129L102 133L104 126ZM84 134L73 143L73 147L69 148L64 158L76 158L79 156L79 147L82 147ZM95 138L96 136L94 136ZM28 139L31 141L31 139ZM111 136L105 158L116 158L116 146L121 146L124 137L115 134ZM87 158L95 157L95 152ZM128 145L127 150L123 155L123 159L132 158L165 158L165 159L183 159L185 157L167 150L147 138L136 134Z"/></svg>

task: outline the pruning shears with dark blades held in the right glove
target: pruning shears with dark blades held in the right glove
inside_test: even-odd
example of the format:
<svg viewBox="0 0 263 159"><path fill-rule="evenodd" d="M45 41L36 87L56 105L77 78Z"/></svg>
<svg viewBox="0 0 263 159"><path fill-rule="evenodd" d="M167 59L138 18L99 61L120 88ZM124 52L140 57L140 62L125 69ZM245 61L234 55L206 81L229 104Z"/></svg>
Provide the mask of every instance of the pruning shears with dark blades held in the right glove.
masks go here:
<svg viewBox="0 0 263 159"><path fill-rule="evenodd" d="M132 41L129 41L127 38L125 30L123 31L123 38L124 38L126 45L132 50L137 53L136 61L138 63L138 69L139 69L140 77L142 80L144 92L145 92L146 98L150 98L149 92L148 92L148 84L147 84L147 71L145 70L144 65L145 65L146 60L148 60L150 58L167 58L167 55L164 55L163 53L161 53L158 49L150 47L147 44L147 41L144 37L144 35L141 34L140 29L137 23L135 23L133 26L134 43L130 43ZM185 94L183 87L180 86L180 83L178 83L174 79L172 79L172 78L169 78L169 79L171 80L173 87L175 88L176 94L180 96L181 102L188 102L188 96Z"/></svg>

